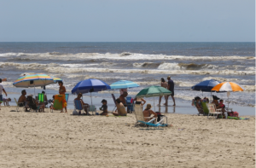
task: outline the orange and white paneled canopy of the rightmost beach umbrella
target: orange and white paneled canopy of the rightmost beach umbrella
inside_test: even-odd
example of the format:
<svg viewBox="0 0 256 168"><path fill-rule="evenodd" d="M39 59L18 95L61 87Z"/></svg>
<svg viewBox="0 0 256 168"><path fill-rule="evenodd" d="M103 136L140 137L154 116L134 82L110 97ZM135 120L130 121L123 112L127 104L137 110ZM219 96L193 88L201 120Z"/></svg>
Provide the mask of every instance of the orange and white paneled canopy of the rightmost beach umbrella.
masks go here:
<svg viewBox="0 0 256 168"><path fill-rule="evenodd" d="M244 89L233 82L223 82L212 88L212 91L244 91Z"/></svg>

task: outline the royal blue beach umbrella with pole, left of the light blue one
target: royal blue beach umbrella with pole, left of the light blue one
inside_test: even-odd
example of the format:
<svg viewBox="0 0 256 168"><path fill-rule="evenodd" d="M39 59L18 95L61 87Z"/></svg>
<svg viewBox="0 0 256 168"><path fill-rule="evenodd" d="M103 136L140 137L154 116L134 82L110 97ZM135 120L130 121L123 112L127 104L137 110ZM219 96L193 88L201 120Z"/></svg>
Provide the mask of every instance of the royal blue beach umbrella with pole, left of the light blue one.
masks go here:
<svg viewBox="0 0 256 168"><path fill-rule="evenodd" d="M91 92L98 92L102 90L110 90L110 86L103 82L102 80L96 78L89 78L83 81L80 81L78 84L75 85L73 90L71 91L72 94L79 94L79 93L88 93L90 92L90 101L91 100Z"/></svg>

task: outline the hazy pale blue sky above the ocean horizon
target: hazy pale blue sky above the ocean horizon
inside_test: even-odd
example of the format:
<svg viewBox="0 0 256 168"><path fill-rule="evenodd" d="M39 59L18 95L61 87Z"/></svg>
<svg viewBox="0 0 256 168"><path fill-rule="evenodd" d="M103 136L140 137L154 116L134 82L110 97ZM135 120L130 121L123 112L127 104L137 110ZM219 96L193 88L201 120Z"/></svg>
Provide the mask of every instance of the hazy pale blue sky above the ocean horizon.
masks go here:
<svg viewBox="0 0 256 168"><path fill-rule="evenodd" d="M255 1L0 0L0 42L255 42Z"/></svg>

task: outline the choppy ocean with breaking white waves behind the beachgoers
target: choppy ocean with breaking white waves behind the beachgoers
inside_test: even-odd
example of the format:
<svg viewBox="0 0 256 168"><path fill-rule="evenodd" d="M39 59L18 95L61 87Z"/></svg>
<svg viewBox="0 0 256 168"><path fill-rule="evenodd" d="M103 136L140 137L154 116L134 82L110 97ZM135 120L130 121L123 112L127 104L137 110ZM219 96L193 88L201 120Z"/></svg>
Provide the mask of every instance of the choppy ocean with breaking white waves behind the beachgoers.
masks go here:
<svg viewBox="0 0 256 168"><path fill-rule="evenodd" d="M7 92L20 95L22 89L15 88L13 82L31 72L62 78L68 92L87 78L107 84L131 80L140 87L129 89L130 96L171 76L177 105L190 103L195 96L209 97L210 93L191 87L212 78L245 89L231 93L230 105L255 107L255 43L0 43L0 78L8 78L3 83ZM26 90L34 92L33 88ZM58 85L46 86L46 92L48 96L57 94ZM110 93L118 95L119 90L92 96L109 98ZM226 93L213 95L227 100Z"/></svg>

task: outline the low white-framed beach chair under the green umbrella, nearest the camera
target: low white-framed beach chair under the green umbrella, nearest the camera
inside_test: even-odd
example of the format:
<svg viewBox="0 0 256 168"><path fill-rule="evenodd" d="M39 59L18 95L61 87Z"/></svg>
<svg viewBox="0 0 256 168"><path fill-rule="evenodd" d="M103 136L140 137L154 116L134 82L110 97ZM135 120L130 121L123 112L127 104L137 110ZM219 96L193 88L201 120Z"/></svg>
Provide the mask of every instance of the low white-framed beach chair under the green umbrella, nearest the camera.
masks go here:
<svg viewBox="0 0 256 168"><path fill-rule="evenodd" d="M144 117L143 116L143 108L140 105L134 106L134 113L137 119L137 124L143 124L146 126L152 126L152 127L165 127L167 126L167 118L164 116L163 119L160 119L160 121L157 122L157 118L151 119L148 122L145 121L145 119L150 119L150 117ZM164 120L166 118L166 124L164 123Z"/></svg>

